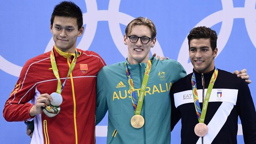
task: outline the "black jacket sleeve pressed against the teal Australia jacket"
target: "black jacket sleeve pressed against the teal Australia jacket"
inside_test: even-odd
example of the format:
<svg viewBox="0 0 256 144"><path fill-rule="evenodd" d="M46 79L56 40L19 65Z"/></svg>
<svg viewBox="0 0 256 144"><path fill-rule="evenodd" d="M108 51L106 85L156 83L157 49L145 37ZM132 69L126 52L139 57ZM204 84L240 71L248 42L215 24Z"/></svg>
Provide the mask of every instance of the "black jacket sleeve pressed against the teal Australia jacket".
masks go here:
<svg viewBox="0 0 256 144"><path fill-rule="evenodd" d="M174 87L172 87L171 91L170 91L170 96L171 96L171 131L173 131L174 126L178 123L178 121L181 118L180 112L175 107L173 89L174 89Z"/></svg>

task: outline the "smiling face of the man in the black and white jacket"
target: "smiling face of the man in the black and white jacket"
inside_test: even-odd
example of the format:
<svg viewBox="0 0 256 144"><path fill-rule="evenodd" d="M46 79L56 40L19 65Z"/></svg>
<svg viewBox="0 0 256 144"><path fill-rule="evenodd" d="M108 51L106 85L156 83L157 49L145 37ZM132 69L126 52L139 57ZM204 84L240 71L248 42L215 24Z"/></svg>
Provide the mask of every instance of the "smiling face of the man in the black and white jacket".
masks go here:
<svg viewBox="0 0 256 144"><path fill-rule="evenodd" d="M214 69L214 58L218 49L211 49L210 39L192 39L189 47L189 57L194 70L207 73Z"/></svg>

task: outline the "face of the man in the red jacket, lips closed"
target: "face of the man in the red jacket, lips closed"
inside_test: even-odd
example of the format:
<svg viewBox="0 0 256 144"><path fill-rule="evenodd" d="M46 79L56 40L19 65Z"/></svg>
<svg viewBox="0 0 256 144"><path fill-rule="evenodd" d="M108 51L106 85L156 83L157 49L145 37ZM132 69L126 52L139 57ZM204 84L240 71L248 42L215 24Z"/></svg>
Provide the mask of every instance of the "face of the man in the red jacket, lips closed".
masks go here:
<svg viewBox="0 0 256 144"><path fill-rule="evenodd" d="M55 46L63 52L74 53L76 39L82 35L84 29L82 26L78 30L76 18L55 16L50 28Z"/></svg>

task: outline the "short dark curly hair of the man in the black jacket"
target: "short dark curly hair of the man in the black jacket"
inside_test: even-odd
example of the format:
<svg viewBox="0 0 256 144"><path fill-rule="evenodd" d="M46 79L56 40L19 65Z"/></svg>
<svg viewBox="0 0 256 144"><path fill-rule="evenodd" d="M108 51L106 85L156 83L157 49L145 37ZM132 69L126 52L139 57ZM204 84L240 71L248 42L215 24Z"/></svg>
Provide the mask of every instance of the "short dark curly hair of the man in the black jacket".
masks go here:
<svg viewBox="0 0 256 144"><path fill-rule="evenodd" d="M188 46L190 48L190 41L192 39L210 39L212 51L217 47L217 33L206 26L198 26L193 28L187 36Z"/></svg>

